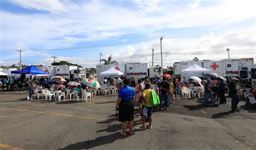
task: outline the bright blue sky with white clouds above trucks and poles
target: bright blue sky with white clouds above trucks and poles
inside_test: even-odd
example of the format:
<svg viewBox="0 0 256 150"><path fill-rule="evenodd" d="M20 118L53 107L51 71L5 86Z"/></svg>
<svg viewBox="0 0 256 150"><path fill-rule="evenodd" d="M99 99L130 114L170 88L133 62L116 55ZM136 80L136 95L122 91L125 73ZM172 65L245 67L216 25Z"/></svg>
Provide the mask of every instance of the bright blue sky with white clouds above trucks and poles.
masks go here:
<svg viewBox="0 0 256 150"><path fill-rule="evenodd" d="M50 66L69 61L86 68L112 55L118 62L161 65L192 60L254 58L256 1L2 0L0 66ZM17 65L18 66L18 65Z"/></svg>

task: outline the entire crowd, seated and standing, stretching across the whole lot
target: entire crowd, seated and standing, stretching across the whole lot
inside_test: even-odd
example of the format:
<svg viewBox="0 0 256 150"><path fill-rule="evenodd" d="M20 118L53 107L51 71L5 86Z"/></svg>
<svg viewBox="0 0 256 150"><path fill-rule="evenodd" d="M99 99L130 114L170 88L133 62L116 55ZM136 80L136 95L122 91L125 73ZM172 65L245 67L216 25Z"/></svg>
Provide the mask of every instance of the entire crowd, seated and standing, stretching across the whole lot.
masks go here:
<svg viewBox="0 0 256 150"><path fill-rule="evenodd" d="M29 96L28 100L32 100L32 95L37 92L42 92L43 88L58 90L66 94L66 89L75 90L78 92L78 96L82 95L82 91L88 91L90 88L86 85L70 85L70 82L51 82L48 84L43 84L45 79L41 78L37 81L36 78L31 80L26 79L25 83L28 85ZM7 86L8 90L13 90L13 84L19 82L15 81L15 78L2 78L0 85ZM77 82L81 82L77 80ZM134 77L118 77L118 78L104 78L104 81L99 81L100 87L105 87L109 89L110 86L117 88L118 98L116 101L116 111L118 111L119 122L122 122L122 132L120 133L123 136L127 134L133 134L133 120L134 114L137 117L142 119L142 125L136 127L136 130L145 130L146 128L152 128L152 113L153 110L167 110L170 108L170 105L174 103L174 98L177 99L177 92L184 88L193 89L192 92L196 94L203 94L203 106L208 105L208 99L211 99L213 106L218 106L216 102L219 100L219 104L226 104L225 93L231 97L231 111L239 111L237 105L240 101L242 93L238 87L238 79L235 77L231 78L231 81L226 83L220 77L208 78L204 81L189 81L183 78L172 78L172 77L147 77L139 78L136 83L136 78ZM10 89L9 89L10 86ZM250 88L249 84L242 84L243 88ZM97 90L92 88L91 90ZM255 96L253 90L250 91L250 95L245 97L250 99L250 102L255 102ZM152 99L157 99L158 104L153 104ZM139 112L134 113L134 103L138 104ZM149 124L146 125L146 122ZM129 125L129 131L126 132L127 124Z"/></svg>

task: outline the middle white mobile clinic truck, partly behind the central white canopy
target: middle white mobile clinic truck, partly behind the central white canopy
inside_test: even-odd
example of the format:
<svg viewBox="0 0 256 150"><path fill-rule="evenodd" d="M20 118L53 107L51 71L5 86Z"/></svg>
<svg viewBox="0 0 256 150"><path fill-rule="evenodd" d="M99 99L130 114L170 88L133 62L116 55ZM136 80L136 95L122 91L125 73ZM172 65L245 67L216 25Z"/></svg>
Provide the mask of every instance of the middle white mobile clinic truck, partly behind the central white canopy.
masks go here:
<svg viewBox="0 0 256 150"><path fill-rule="evenodd" d="M161 77L163 75L163 69L160 66L149 67L148 63L117 63L111 65L97 65L97 77L100 77L100 81L103 81L104 76L99 76L99 73L104 72L107 69L113 67L116 70L124 73L123 76L144 78L145 76Z"/></svg>

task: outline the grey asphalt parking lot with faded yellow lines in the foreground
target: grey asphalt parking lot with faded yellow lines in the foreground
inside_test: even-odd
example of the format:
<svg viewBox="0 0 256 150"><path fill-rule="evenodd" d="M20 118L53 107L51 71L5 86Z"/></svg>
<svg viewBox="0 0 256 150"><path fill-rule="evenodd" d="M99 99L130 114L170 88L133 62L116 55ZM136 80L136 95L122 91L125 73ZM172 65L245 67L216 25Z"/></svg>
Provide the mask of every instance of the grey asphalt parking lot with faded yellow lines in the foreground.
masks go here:
<svg viewBox="0 0 256 150"><path fill-rule="evenodd" d="M217 108L178 97L153 113L153 128L122 137L114 111L117 95L91 102L26 101L0 91L0 149L255 149L256 111L231 113L231 99ZM209 100L210 104L210 100ZM217 102L217 104L219 104ZM138 110L138 106L136 106ZM140 126L139 118L134 126Z"/></svg>

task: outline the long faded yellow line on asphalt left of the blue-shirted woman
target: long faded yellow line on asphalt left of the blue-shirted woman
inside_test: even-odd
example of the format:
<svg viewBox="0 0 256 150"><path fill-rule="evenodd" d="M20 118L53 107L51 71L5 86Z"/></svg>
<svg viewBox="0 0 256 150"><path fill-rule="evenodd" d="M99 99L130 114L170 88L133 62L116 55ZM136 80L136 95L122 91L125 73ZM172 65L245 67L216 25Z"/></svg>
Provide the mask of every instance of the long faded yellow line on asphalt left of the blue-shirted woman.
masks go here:
<svg viewBox="0 0 256 150"><path fill-rule="evenodd" d="M3 110L15 110L15 109L3 109ZM9 115L1 116L0 118L6 117L6 116L10 116L10 115L14 115L16 113L33 112L33 113L41 113L41 114L47 114L47 115L53 115L53 116L65 116L65 117L76 117L76 118L84 118L84 119L107 120L107 119L102 119L102 118L93 118L93 117L85 117L85 116L74 116L74 115L68 115L68 114L63 114L63 113L41 112L41 111L33 111L33 110L16 110L16 111L19 111L19 112L15 112L15 113L11 113Z"/></svg>

